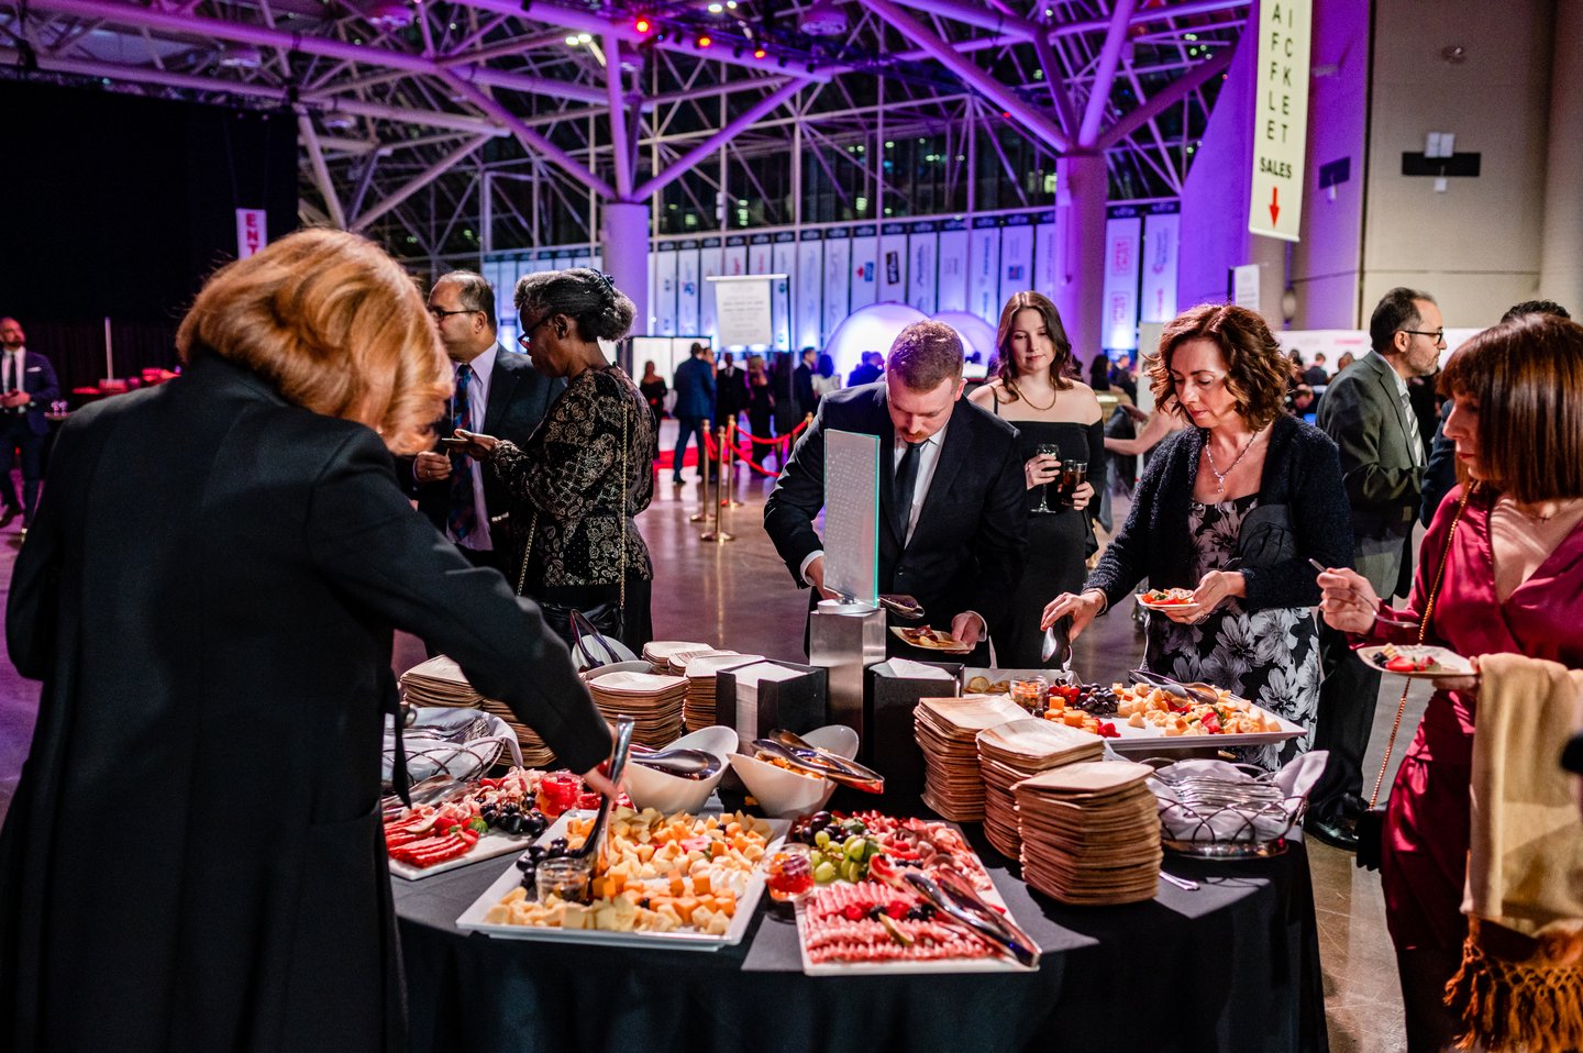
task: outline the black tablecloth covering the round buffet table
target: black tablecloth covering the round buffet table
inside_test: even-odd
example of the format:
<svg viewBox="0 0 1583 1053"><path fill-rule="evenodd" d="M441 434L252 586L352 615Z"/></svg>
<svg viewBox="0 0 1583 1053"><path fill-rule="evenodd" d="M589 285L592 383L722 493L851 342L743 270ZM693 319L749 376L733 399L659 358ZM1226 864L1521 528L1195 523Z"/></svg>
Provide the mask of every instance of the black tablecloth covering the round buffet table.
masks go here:
<svg viewBox="0 0 1583 1053"><path fill-rule="evenodd" d="M977 834L977 827L969 827ZM456 917L510 858L393 879L412 1048L519 1050L1314 1050L1325 1002L1300 842L1273 860L1167 855L1200 882L1126 907L1065 907L972 836L1032 974L806 977L790 915L760 910L739 947L627 950L462 934ZM766 899L768 903L768 899Z"/></svg>

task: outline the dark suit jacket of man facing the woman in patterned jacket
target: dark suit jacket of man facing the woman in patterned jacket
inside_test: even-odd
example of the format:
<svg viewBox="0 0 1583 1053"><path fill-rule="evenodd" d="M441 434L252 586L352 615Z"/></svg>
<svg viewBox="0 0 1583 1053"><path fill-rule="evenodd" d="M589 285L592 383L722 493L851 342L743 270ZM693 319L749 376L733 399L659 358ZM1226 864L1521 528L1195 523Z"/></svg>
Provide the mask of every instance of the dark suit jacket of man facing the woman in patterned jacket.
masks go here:
<svg viewBox="0 0 1583 1053"><path fill-rule="evenodd" d="M510 439L518 447L526 447L529 437L545 420L551 404L567 390L567 382L559 377L551 378L533 369L527 355L495 348L494 372L489 374L489 402L484 407L484 426L476 429L495 439ZM451 420L446 418L438 428L442 435L451 434ZM438 450L438 443L435 443ZM513 545L511 521L497 519L511 508L511 496L499 480L489 472L484 478L484 508L489 511L489 538L497 553L510 553ZM445 516L451 510L451 480L418 485L412 473L412 462L402 462L402 480L412 488L418 499L418 508L429 516L442 534L445 532ZM526 524L524 527L526 529Z"/></svg>

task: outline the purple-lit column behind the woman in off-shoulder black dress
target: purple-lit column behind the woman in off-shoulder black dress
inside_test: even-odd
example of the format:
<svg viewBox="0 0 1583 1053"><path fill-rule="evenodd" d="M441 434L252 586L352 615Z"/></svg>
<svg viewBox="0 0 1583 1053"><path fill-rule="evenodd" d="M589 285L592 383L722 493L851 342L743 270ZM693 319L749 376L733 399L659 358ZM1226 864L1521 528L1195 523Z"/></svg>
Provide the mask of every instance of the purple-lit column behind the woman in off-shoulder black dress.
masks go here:
<svg viewBox="0 0 1583 1053"><path fill-rule="evenodd" d="M1110 173L1103 154L1069 154L1056 162L1056 310L1086 366L1103 347L1105 201Z"/></svg>

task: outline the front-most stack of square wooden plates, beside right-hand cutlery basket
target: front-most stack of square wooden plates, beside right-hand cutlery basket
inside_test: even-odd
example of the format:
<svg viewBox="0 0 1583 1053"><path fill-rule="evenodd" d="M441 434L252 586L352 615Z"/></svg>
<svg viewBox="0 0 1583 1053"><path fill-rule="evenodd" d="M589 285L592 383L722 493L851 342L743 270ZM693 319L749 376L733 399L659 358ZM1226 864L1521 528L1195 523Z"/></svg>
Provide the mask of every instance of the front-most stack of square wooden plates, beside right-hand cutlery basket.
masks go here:
<svg viewBox="0 0 1583 1053"><path fill-rule="evenodd" d="M1160 884L1160 819L1145 784L1154 770L1095 760L1016 784L1023 879L1061 903L1152 899Z"/></svg>

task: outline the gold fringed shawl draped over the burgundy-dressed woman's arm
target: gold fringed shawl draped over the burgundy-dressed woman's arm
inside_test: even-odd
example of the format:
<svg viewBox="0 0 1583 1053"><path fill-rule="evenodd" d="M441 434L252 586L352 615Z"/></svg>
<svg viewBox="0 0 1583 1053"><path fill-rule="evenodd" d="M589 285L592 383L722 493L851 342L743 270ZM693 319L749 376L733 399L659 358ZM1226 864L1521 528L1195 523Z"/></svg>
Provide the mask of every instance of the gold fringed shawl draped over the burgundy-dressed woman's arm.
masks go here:
<svg viewBox="0 0 1583 1053"><path fill-rule="evenodd" d="M1561 747L1583 671L1520 654L1480 663L1458 1048L1583 1050L1583 817Z"/></svg>

